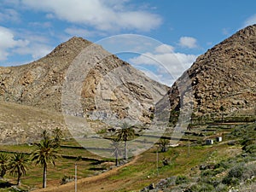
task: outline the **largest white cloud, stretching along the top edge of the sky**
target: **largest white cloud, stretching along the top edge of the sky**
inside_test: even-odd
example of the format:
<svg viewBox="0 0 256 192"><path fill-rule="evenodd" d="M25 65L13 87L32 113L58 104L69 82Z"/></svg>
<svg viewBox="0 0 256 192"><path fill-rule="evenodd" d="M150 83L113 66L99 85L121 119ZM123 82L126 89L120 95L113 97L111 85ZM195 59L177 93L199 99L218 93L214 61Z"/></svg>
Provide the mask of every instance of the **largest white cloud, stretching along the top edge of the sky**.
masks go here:
<svg viewBox="0 0 256 192"><path fill-rule="evenodd" d="M47 17L55 17L72 23L89 25L101 31L131 29L150 31L160 26L159 15L142 10L129 10L126 1L105 0L22 0L26 6L46 12Z"/></svg>

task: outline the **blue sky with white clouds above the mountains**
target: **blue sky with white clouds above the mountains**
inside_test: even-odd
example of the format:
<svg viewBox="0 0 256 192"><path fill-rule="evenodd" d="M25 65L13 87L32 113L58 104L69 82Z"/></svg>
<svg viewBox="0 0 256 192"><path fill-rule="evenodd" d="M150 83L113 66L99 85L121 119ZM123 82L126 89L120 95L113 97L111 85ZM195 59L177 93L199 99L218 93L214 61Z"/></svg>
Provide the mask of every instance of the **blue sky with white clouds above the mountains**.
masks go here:
<svg viewBox="0 0 256 192"><path fill-rule="evenodd" d="M214 44L256 23L254 0L2 0L0 5L2 67L35 61L73 36L101 43L137 34L160 44L119 57L165 84L173 82L168 70L180 75ZM179 62L170 64L174 57Z"/></svg>

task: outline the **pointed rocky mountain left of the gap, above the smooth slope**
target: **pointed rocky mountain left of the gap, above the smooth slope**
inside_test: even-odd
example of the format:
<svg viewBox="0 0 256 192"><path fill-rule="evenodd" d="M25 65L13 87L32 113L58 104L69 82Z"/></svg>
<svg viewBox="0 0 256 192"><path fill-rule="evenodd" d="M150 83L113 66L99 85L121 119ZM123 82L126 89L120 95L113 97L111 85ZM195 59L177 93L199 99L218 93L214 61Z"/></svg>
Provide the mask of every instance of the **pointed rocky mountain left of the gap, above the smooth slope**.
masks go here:
<svg viewBox="0 0 256 192"><path fill-rule="evenodd" d="M19 67L0 67L0 100L61 112L62 86L67 80L67 71L81 51L90 45L83 38L71 38L38 61ZM101 59L98 55L102 53L107 51L97 46L93 61L84 66L88 71L78 90L83 112L68 114L103 119L107 113L92 112L102 105L97 101L107 101L116 119L138 118L143 123L149 122L154 103L166 94L166 85L149 79L115 55L108 54ZM109 75L114 71L117 73ZM111 82L116 87L110 89Z"/></svg>

